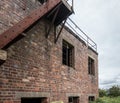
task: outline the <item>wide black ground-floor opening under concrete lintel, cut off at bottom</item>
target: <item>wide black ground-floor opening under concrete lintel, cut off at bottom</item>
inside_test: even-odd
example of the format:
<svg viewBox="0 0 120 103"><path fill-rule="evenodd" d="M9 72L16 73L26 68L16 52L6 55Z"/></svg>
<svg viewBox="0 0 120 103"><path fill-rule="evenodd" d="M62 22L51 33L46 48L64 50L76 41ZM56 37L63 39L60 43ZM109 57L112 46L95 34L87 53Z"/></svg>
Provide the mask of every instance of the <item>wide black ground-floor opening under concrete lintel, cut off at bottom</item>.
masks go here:
<svg viewBox="0 0 120 103"><path fill-rule="evenodd" d="M21 103L48 103L47 98L22 98Z"/></svg>

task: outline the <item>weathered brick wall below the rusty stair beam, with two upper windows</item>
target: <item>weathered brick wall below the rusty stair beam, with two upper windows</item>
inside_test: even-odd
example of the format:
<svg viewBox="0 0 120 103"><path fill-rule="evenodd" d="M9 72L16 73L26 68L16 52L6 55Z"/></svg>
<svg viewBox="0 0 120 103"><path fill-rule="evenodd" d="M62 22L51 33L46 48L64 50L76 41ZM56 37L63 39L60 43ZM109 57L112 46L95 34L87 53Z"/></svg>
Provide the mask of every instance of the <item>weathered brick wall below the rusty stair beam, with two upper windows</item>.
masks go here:
<svg viewBox="0 0 120 103"><path fill-rule="evenodd" d="M69 96L88 103L88 96L98 97L98 54L65 28L55 44L53 30L45 37L48 24L39 20L6 49L7 60L0 65L0 103L21 103L23 97L68 103ZM62 64L63 39L74 46L74 68ZM88 56L95 61L94 76L88 74Z"/></svg>

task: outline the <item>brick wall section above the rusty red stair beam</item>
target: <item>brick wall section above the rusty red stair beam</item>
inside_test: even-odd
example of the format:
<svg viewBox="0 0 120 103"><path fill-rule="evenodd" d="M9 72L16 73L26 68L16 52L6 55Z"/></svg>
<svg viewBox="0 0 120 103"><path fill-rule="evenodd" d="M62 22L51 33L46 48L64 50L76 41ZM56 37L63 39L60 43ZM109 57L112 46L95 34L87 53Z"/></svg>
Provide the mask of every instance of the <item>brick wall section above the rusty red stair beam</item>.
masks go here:
<svg viewBox="0 0 120 103"><path fill-rule="evenodd" d="M38 0L0 0L0 34L40 5Z"/></svg>

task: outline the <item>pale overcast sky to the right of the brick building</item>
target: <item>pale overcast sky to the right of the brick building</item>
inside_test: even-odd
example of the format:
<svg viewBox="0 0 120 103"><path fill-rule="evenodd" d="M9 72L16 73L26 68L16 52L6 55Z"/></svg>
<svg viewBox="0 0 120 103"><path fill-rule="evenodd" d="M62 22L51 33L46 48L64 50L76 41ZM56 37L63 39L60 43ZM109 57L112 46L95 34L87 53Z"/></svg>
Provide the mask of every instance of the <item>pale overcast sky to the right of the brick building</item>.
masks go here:
<svg viewBox="0 0 120 103"><path fill-rule="evenodd" d="M71 18L98 45L99 87L120 85L120 0L74 0Z"/></svg>

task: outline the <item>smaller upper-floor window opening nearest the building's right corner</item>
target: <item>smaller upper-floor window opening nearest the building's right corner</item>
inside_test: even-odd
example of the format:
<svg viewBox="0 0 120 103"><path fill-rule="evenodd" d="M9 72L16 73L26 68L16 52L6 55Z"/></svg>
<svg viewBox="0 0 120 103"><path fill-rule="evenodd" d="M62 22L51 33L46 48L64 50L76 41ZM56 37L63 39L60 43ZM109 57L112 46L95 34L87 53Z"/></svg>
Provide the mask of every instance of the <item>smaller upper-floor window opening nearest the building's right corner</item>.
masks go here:
<svg viewBox="0 0 120 103"><path fill-rule="evenodd" d="M88 57L88 73L90 75L95 75L95 63L91 57Z"/></svg>

